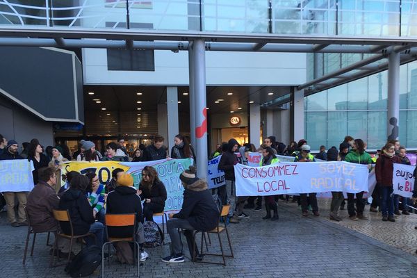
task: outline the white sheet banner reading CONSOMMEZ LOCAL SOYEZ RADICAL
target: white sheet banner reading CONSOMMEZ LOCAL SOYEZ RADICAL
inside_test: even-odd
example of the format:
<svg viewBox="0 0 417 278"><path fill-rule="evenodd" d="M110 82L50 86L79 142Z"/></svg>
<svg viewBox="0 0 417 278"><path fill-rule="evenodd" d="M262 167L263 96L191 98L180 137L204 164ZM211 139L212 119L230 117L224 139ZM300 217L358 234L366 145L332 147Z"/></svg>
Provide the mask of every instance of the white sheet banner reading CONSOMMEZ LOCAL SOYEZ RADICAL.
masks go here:
<svg viewBox="0 0 417 278"><path fill-rule="evenodd" d="M237 196L368 190L368 167L354 163L276 163L263 167L234 167Z"/></svg>

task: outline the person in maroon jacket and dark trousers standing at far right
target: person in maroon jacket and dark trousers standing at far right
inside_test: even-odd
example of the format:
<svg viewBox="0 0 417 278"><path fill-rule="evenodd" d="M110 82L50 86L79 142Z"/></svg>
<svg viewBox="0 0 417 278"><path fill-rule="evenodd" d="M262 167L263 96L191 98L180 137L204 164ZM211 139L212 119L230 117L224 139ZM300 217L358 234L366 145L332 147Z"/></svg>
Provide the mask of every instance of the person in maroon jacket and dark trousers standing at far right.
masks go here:
<svg viewBox="0 0 417 278"><path fill-rule="evenodd" d="M387 143L382 152L383 154L379 156L375 165L375 177L382 188L382 221L395 222L393 163L401 163L401 160L398 156L395 156L395 146L392 143Z"/></svg>

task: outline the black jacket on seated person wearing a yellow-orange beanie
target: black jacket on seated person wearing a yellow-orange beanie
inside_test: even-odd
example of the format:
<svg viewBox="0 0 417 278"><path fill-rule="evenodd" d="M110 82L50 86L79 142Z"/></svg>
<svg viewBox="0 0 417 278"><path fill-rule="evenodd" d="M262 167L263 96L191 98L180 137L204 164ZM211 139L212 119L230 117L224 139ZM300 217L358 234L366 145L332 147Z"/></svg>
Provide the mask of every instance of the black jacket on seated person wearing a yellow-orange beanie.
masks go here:
<svg viewBox="0 0 417 278"><path fill-rule="evenodd" d="M106 213L122 214L136 213L136 223L140 222L142 215L142 204L136 189L130 186L117 186L111 193L108 193L106 200ZM129 237L132 236L132 229L129 227L107 227L108 236Z"/></svg>

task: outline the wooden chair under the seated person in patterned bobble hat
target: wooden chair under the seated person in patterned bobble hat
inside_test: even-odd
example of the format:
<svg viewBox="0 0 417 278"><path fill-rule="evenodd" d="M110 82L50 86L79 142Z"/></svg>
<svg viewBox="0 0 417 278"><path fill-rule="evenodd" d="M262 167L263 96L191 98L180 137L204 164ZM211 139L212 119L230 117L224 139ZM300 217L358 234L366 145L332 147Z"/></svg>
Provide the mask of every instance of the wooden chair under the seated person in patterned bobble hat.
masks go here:
<svg viewBox="0 0 417 278"><path fill-rule="evenodd" d="M229 236L229 231L227 230L227 215L229 214L229 209L230 209L230 205L224 205L222 206L222 209L220 211L220 218L222 218L223 222L224 222L224 226L220 226L219 222L220 222L220 218L217 224L217 227L215 227L215 229L211 230L211 231L194 231L193 233L193 242L195 242L195 236L198 233L202 233L202 243L201 243L201 254L202 255L208 255L208 256L222 256L223 259L223 263L217 263L217 262L213 262L213 261L196 261L195 260L195 247L193 246L193 254L192 259L194 262L197 263L213 263L213 264L220 264L220 265L224 265L226 266L226 259L225 257L231 257L234 258L234 254L233 254L233 248L231 247L231 240L230 240L230 236ZM229 242L229 248L230 248L230 255L225 255L224 254L224 250L223 250L223 244L222 244L222 238L220 237L220 234L222 234L223 232L226 232L227 235L227 241ZM222 252L221 254L210 254L210 253L203 253L203 240L205 238L205 234L217 234L218 238L219 238L219 244L220 244L220 251Z"/></svg>

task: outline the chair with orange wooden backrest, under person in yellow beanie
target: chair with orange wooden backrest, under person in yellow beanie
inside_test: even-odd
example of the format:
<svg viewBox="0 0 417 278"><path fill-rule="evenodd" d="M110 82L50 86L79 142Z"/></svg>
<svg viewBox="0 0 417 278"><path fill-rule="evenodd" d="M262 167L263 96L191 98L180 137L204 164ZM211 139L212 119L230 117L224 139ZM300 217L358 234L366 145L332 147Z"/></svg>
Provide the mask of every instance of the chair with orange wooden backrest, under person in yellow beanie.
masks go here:
<svg viewBox="0 0 417 278"><path fill-rule="evenodd" d="M132 236L127 238L117 238L113 237L111 233L109 234L108 228L109 227L131 227ZM140 265L140 247L139 243L136 242L136 213L129 213L129 214L106 214L106 231L108 240L104 243L103 247L101 247L101 277L104 277L104 247L108 245L108 254L110 254L110 244L118 243L121 241L125 241L128 243L133 243L133 258L138 256L138 277L140 277L139 272L139 265ZM136 252L137 250L137 252ZM108 265L110 266L110 256L108 257Z"/></svg>

